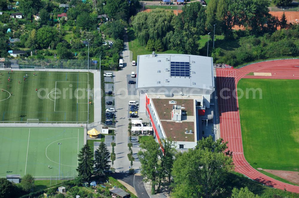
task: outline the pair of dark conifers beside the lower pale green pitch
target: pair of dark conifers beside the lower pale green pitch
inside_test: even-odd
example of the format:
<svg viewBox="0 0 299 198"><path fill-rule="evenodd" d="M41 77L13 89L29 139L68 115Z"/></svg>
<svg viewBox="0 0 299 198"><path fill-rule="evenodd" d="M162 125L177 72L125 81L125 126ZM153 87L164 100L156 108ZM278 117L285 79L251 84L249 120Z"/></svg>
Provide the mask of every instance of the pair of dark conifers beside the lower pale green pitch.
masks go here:
<svg viewBox="0 0 299 198"><path fill-rule="evenodd" d="M102 177L110 170L109 159L110 152L104 142L100 143L94 153L89 145L85 144L78 154L78 175L83 181L89 181L92 175Z"/></svg>

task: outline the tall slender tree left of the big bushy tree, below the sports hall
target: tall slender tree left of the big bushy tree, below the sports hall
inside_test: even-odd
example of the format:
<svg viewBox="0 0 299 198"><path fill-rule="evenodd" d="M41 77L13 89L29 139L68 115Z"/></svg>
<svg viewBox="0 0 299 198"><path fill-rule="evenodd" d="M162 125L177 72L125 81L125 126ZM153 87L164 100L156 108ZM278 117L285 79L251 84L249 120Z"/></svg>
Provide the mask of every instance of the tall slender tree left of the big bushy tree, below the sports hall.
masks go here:
<svg viewBox="0 0 299 198"><path fill-rule="evenodd" d="M140 145L141 150L138 151L138 158L141 163L141 175L145 182L150 181L152 185L152 194L155 194L156 179L158 174L156 170L160 169L158 156L161 155L159 143L152 136Z"/></svg>

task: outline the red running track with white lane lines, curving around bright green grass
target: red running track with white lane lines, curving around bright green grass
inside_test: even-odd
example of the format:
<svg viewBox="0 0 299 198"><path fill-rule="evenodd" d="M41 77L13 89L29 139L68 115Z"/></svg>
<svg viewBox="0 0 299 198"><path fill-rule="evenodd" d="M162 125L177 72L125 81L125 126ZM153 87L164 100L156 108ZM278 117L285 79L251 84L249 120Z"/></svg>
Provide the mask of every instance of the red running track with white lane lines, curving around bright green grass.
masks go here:
<svg viewBox="0 0 299 198"><path fill-rule="evenodd" d="M298 66L298 67L297 67ZM272 76L245 76L250 72L269 72ZM241 78L299 79L299 59L254 63L239 69L216 69L220 135L233 151L235 171L264 185L299 193L299 186L274 180L252 168L243 154L237 83Z"/></svg>

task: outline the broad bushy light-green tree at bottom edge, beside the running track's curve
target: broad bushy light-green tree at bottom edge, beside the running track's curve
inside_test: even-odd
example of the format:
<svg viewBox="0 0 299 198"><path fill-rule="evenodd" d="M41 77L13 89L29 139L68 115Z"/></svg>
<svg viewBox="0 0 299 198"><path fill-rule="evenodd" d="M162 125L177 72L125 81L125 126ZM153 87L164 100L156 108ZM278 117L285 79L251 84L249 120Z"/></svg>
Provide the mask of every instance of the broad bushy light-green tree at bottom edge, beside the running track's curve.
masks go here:
<svg viewBox="0 0 299 198"><path fill-rule="evenodd" d="M212 147L207 145L203 149L189 150L176 156L172 172L172 197L189 195L209 198L223 191L225 175L233 171L233 160L223 152L211 152L208 148Z"/></svg>

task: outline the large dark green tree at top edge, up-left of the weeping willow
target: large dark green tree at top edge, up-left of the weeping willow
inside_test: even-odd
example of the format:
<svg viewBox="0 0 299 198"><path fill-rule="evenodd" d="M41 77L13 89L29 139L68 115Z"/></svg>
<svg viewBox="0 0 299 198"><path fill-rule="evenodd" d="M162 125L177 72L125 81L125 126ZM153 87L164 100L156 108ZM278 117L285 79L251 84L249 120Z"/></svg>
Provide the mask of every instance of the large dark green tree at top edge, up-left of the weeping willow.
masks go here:
<svg viewBox="0 0 299 198"><path fill-rule="evenodd" d="M128 16L129 16L128 15L128 13L129 13L128 1L126 1L126 0L106 1L104 11L111 18L127 20Z"/></svg>

